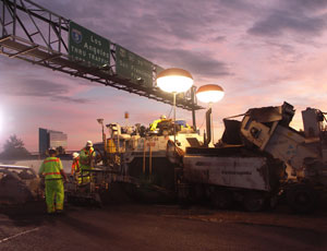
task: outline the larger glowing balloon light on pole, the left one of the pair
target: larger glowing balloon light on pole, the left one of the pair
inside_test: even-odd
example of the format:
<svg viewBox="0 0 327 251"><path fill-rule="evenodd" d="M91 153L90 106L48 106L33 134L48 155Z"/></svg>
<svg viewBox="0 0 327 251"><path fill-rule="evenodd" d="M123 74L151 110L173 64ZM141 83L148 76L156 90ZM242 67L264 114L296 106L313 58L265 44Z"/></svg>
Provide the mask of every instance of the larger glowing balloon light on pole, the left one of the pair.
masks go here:
<svg viewBox="0 0 327 251"><path fill-rule="evenodd" d="M168 93L183 93L193 85L193 77L183 69L170 68L158 74L157 85Z"/></svg>

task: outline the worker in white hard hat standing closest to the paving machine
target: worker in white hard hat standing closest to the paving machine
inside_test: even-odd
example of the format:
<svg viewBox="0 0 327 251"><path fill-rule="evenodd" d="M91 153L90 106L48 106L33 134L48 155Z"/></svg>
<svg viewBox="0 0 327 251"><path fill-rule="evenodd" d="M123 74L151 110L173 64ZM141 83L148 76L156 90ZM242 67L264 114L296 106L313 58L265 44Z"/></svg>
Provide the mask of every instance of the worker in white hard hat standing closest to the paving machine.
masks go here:
<svg viewBox="0 0 327 251"><path fill-rule="evenodd" d="M85 147L80 152L80 170L82 176L80 183L87 183L90 181L89 171L84 170L93 169L95 156L93 143L92 141L87 141Z"/></svg>

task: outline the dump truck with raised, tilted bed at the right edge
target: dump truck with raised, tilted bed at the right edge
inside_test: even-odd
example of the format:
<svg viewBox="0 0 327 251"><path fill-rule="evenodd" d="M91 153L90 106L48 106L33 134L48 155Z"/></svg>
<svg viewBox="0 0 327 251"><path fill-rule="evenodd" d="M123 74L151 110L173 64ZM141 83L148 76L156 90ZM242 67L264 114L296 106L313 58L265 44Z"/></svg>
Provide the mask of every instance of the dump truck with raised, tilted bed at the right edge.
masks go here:
<svg viewBox="0 0 327 251"><path fill-rule="evenodd" d="M241 136L249 148L270 154L287 165L288 177L281 191L298 212L315 207L327 188L327 128L325 112L302 111L303 131L290 127L294 116L288 103L278 107L247 110L241 122Z"/></svg>

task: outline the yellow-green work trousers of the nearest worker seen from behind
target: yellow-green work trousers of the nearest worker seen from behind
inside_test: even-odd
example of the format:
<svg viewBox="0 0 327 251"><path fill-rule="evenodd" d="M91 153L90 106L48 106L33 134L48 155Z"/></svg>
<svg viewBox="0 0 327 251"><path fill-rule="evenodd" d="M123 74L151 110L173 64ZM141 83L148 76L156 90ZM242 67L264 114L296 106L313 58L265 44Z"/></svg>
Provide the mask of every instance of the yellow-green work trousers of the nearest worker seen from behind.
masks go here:
<svg viewBox="0 0 327 251"><path fill-rule="evenodd" d="M56 205L55 205L56 200ZM46 202L48 213L63 210L64 190L62 179L46 180Z"/></svg>

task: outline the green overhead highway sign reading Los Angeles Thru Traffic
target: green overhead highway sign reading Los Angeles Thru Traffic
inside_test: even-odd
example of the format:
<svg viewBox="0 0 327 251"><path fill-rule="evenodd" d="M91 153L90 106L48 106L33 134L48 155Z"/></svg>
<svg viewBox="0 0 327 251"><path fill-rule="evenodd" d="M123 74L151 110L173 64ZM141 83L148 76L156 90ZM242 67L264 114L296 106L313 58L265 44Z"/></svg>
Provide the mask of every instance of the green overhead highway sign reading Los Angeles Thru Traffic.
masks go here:
<svg viewBox="0 0 327 251"><path fill-rule="evenodd" d="M110 65L110 41L70 21L69 56L89 67Z"/></svg>

